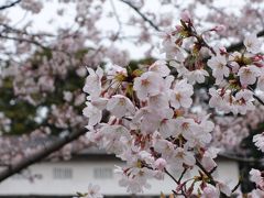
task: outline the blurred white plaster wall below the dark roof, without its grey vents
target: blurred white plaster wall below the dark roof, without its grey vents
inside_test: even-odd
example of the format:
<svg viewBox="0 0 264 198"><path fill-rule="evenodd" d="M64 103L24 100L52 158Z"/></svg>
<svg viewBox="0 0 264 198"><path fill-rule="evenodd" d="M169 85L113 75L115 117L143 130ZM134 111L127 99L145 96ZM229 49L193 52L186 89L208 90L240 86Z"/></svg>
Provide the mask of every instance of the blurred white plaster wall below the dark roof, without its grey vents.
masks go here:
<svg viewBox="0 0 264 198"><path fill-rule="evenodd" d="M85 193L89 183L100 185L103 195L123 195L127 194L125 188L118 184L118 175L112 175L112 178L95 178L95 168L110 168L114 165L122 166L121 162L117 161L100 161L100 162L57 162L57 163L40 163L30 167L32 174L41 174L42 179L35 179L31 183L24 178L9 178L0 184L0 195L75 195L76 191ZM54 167L70 167L73 168L72 179L54 179ZM194 170L195 172L195 170ZM219 163L218 172L216 173L224 182L230 182L234 186L239 178L238 164L231 161ZM175 188L170 178L165 180L150 182L152 188L145 190L145 195L160 195L161 190L165 194L170 193Z"/></svg>

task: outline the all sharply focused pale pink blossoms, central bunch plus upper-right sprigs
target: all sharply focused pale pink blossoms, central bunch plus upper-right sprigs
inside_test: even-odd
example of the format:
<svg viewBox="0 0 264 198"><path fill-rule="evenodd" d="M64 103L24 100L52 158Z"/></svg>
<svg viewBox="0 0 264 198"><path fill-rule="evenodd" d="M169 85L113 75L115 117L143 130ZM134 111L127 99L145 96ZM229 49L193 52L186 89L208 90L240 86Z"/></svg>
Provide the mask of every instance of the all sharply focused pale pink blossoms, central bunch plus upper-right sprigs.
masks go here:
<svg viewBox="0 0 264 198"><path fill-rule="evenodd" d="M228 53L223 47L209 46L202 34L184 12L180 25L162 34L165 59L139 68L88 68L84 87L89 95L84 109L89 119L87 135L127 162L116 172L128 191L142 193L150 187L148 178L163 179L165 174L174 178L170 169L185 175L195 166L200 175L187 180L174 178L175 195L190 196L195 185L205 197L230 196L235 190L211 176L218 153L209 146L215 124L210 114L191 112L194 86L211 76L211 108L234 114L253 110L255 94L251 86L263 90L261 45L255 35L250 35L242 53Z"/></svg>

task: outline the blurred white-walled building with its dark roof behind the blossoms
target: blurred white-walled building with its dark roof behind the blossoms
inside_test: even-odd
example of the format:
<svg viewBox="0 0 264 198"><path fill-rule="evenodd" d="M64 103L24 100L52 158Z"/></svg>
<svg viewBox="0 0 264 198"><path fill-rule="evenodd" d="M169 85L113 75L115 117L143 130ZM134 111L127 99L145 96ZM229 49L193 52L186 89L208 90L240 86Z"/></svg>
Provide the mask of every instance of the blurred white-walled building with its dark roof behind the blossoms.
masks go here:
<svg viewBox="0 0 264 198"><path fill-rule="evenodd" d="M223 157L218 158L215 173L222 180L235 186L239 178L238 163ZM119 186L119 176L113 174L114 165L123 163L112 155L101 152L86 152L64 162L41 162L30 166L22 175L15 175L0 184L0 197L73 197L77 191L85 193L89 183L99 185L106 197L125 197L127 189ZM37 175L33 180L28 176ZM232 180L230 180L232 178ZM169 194L175 188L169 177L164 180L152 179L151 189L144 197ZM139 197L139 196L136 196Z"/></svg>

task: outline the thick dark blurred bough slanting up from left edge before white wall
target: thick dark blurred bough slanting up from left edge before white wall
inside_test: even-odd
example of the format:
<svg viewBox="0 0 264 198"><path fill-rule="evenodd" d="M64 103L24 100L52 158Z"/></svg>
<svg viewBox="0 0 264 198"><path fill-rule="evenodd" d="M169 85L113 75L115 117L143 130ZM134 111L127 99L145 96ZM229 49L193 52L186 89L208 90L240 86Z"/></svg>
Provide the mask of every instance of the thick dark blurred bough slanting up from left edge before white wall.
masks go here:
<svg viewBox="0 0 264 198"><path fill-rule="evenodd" d="M32 156L24 158L16 164L10 165L8 168L0 172L0 183L12 175L20 173L22 169L29 167L30 165L37 163L41 160L47 157L52 153L61 150L67 143L73 142L74 140L78 139L79 136L84 135L85 133L86 133L86 130L74 131L74 132L69 133L68 135L44 146L43 150L33 154Z"/></svg>

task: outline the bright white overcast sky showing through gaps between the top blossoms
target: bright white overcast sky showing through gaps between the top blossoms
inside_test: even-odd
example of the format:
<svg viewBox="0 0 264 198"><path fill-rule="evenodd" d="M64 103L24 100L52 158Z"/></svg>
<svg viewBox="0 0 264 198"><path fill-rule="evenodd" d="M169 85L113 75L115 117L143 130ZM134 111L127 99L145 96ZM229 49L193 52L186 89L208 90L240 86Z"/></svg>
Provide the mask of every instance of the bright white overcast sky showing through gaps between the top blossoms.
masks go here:
<svg viewBox="0 0 264 198"><path fill-rule="evenodd" d="M2 1L2 0L1 0ZM136 1L136 0L134 0ZM184 7L183 3L187 3L189 1L193 0L177 0L179 3L182 3L180 6ZM12 19L12 23L13 25L15 25L16 28L20 26L20 24L25 24L26 22L29 22L29 20L33 19L33 24L32 24L32 29L33 31L37 32L40 30L44 30L51 33L56 33L56 29L58 26L67 26L67 28L73 28L75 29L76 26L73 26L74 24L74 18L75 18L75 9L66 9L66 12L64 14L64 16L58 16L57 15L57 10L62 9L62 8L74 8L75 3L58 3L59 0L42 0L43 4L44 4L44 9L42 10L41 14L32 14L30 12L26 12L22 9L20 9L20 7L14 7L12 9L8 10L8 15ZM103 4L103 7L106 8L106 10L112 10L111 7L111 0L107 0L106 3ZM127 21L128 16L131 14L136 15L136 13L129 8L127 4L120 2L119 0L112 0L112 2L116 6L116 10L118 12L118 14L120 15L120 20ZM152 11L155 11L157 13L162 12L161 8L158 6L158 0L145 0L147 7L150 8ZM222 7L228 7L229 10L231 12L235 12L238 11L238 6L242 6L243 1L241 0L217 0L216 4L221 9ZM163 11L168 11L172 10L172 8L165 8L163 9ZM202 15L205 15L206 13L206 8L205 7L200 7L200 9L198 10L198 12ZM178 13L177 13L178 14ZM48 23L51 22L52 23ZM175 19L175 22L177 22L177 18ZM112 20L110 20L107 15L105 15L105 19L101 20L98 24L98 28L102 31L109 31L109 30L118 30L118 23L116 21L116 19L113 18ZM128 35L136 35L138 32L134 28L131 26L124 26L123 31L125 32L125 34ZM156 45L158 44L158 40L155 43ZM136 46L133 44L133 42L131 41L120 41L117 43L118 47L120 48L124 48L128 50L130 52L131 58L142 58L144 57L144 52L146 51L147 46ZM155 56L158 57L158 51L154 51L155 52Z"/></svg>

